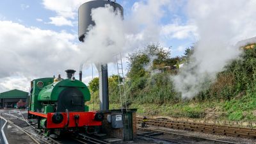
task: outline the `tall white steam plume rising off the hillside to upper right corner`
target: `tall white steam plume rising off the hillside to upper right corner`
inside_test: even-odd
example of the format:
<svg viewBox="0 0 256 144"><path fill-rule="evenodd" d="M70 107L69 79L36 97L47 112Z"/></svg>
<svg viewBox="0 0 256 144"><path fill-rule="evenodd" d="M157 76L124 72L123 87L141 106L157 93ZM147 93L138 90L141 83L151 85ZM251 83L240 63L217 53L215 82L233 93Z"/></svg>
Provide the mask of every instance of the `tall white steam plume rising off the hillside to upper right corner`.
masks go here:
<svg viewBox="0 0 256 144"><path fill-rule="evenodd" d="M188 17L198 28L199 40L191 63L174 77L182 97L191 98L207 88L216 73L239 57L236 42L256 36L256 1L188 1ZM208 83L209 84L209 83Z"/></svg>

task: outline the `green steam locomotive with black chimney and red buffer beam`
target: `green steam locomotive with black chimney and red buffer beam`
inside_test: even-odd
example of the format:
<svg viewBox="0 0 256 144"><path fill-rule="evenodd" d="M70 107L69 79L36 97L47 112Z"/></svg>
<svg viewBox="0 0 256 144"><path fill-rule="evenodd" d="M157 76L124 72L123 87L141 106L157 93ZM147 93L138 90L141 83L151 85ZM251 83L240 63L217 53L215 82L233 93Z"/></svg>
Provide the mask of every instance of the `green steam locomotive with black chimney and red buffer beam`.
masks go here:
<svg viewBox="0 0 256 144"><path fill-rule="evenodd" d="M61 132L97 132L103 114L89 111L88 87L74 78L75 70L66 70L67 79L48 77L31 81L28 119L36 119L38 129L46 135Z"/></svg>

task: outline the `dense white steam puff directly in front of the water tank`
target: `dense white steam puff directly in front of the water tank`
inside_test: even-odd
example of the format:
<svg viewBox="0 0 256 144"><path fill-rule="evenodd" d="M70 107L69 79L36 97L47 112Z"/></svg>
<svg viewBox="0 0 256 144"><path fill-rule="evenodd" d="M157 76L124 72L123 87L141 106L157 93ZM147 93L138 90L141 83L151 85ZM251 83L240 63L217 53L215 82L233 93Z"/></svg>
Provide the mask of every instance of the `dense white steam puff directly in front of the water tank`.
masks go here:
<svg viewBox="0 0 256 144"><path fill-rule="evenodd" d="M125 44L124 23L120 12L114 12L113 7L92 10L92 20L95 22L84 38L80 48L84 52L85 62L107 62L116 52L120 52Z"/></svg>

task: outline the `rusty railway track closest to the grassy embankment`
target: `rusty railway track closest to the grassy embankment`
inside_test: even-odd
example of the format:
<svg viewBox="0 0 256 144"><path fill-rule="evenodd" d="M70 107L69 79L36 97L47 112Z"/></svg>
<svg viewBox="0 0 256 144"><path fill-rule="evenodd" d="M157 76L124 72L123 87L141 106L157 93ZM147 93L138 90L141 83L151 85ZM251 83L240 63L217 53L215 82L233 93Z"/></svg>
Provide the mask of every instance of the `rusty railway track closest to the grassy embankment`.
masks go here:
<svg viewBox="0 0 256 144"><path fill-rule="evenodd" d="M137 117L137 124L141 124L142 118ZM166 119L148 118L147 125L166 127L170 129L182 129L187 131L221 134L225 136L236 136L242 138L256 138L256 129L232 127L225 125L200 124L195 122L179 122Z"/></svg>

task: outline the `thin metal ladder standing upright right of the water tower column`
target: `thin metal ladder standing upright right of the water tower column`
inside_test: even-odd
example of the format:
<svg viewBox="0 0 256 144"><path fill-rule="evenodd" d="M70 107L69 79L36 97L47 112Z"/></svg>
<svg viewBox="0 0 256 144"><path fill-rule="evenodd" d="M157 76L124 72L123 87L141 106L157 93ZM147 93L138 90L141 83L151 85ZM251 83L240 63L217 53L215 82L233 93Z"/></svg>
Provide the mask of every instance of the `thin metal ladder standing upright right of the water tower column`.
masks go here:
<svg viewBox="0 0 256 144"><path fill-rule="evenodd" d="M123 63L122 63L122 54L121 54L121 52L116 54L116 67L117 67L117 74L118 74L118 87L119 87L119 93L120 93L121 109L123 111L123 101L122 101L122 99L124 98L125 110L127 111L125 85L124 85L125 84L124 68L123 68ZM122 78L122 81L120 81L120 77Z"/></svg>

